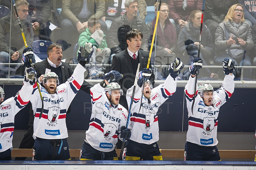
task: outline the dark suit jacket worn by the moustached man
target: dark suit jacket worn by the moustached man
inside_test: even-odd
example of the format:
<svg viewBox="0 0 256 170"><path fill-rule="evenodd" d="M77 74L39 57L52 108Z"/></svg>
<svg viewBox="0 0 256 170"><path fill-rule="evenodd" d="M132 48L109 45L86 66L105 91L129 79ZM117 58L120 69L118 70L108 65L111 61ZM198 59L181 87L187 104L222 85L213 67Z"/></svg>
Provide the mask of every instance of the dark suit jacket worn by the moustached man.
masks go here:
<svg viewBox="0 0 256 170"><path fill-rule="evenodd" d="M60 70L61 70L61 82L66 82L68 80L69 77L71 77L71 75L73 74L73 69L72 67L65 62L61 62L61 66L60 66ZM45 59L44 61L38 62L36 64L34 64L34 68L36 70L36 78L39 78L42 74L45 74L45 70L47 69L51 69L50 64L48 62L47 59ZM86 93L90 94L90 89L92 88L92 85L89 84L87 81L84 81L83 85L81 86L80 89L82 89L83 91L85 91Z"/></svg>

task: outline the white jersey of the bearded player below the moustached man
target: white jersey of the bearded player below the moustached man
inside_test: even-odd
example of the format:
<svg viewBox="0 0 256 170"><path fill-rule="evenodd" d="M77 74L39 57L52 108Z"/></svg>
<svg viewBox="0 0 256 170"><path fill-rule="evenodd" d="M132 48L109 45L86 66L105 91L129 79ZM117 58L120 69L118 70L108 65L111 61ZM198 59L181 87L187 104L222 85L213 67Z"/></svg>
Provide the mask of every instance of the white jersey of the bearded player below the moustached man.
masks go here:
<svg viewBox="0 0 256 170"><path fill-rule="evenodd" d="M78 64L72 76L63 84L57 86L56 93L49 94L41 87L44 100L42 118L39 119L42 102L38 90L32 92L30 102L34 111L34 134L43 139L64 139L68 137L66 112L78 90L84 82L85 68Z"/></svg>

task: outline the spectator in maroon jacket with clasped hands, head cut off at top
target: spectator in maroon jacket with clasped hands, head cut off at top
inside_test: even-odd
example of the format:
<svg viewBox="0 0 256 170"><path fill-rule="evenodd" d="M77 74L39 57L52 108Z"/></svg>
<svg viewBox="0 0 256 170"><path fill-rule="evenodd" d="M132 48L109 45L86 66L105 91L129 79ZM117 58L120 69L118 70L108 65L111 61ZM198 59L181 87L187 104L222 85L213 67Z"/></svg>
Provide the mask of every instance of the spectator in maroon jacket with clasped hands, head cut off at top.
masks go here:
<svg viewBox="0 0 256 170"><path fill-rule="evenodd" d="M175 22L177 33L188 24L190 13L202 10L203 0L169 0L169 17Z"/></svg>

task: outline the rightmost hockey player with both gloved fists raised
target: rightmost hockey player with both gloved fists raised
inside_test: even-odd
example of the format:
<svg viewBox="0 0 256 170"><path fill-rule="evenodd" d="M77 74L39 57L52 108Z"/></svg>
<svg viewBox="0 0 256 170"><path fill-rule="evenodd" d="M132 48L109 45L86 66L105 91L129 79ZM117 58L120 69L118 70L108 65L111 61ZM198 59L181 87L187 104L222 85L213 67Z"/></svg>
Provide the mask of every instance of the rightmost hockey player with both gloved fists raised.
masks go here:
<svg viewBox="0 0 256 170"><path fill-rule="evenodd" d="M185 86L185 96L188 108L188 132L185 144L185 160L220 160L219 151L216 147L218 115L220 106L228 101L235 88L234 61L226 58L223 61L223 70L226 74L220 89L213 91L208 83L201 83L196 89L195 103L192 109L196 68L202 68L203 60L195 58L189 67L191 76Z"/></svg>

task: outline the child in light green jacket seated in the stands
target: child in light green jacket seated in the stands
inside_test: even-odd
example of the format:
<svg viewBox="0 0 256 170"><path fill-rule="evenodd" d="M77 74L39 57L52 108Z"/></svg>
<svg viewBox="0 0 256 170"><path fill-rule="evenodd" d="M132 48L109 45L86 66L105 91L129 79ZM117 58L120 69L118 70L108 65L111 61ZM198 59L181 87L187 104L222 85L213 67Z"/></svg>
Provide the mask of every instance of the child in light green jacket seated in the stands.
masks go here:
<svg viewBox="0 0 256 170"><path fill-rule="evenodd" d="M111 50L107 46L107 42L105 39L105 35L100 30L100 20L95 18L90 18L88 20L88 27L85 29L85 32L81 33L78 40L79 46L84 46L84 43L92 43L94 48L94 53L92 54L92 58L90 61L90 66L88 69L88 73L90 74L90 79L99 79L99 77L103 77L105 74L106 66L102 66L97 71L95 65L98 64L108 64L108 60L110 57ZM95 55L96 53L96 55ZM103 62L101 62L103 60ZM96 62L97 61L97 62Z"/></svg>

